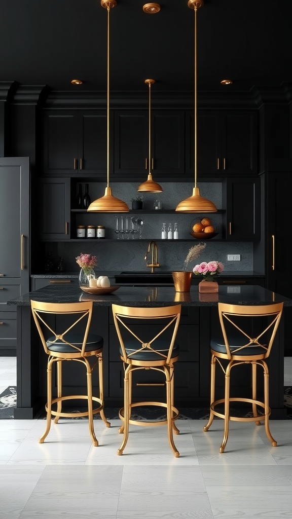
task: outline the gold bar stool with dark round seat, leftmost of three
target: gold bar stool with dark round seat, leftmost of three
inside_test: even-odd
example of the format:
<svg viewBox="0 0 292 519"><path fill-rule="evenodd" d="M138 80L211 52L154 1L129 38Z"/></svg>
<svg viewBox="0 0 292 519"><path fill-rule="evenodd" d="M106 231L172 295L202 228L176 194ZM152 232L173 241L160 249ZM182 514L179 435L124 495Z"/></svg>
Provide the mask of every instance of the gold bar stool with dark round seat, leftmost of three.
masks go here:
<svg viewBox="0 0 292 519"><path fill-rule="evenodd" d="M39 443L44 443L51 426L51 415L55 416L54 422L58 423L60 417L75 418L77 416L88 416L89 432L94 446L98 445L94 432L93 415L100 413L107 427L110 422L103 412L103 376L102 376L102 349L103 338L100 335L89 333L92 316L92 301L84 303L41 303L31 301L32 315L41 337L45 352L48 354L47 364L47 424L44 434ZM66 316L58 319L58 316ZM61 321L61 323L60 323ZM54 331L52 322L60 323L59 330ZM65 324L64 324L65 322ZM83 332L79 332L83 327ZM55 327L55 326L54 326ZM57 327L57 324L56 324ZM61 327L61 329L60 329ZM75 330L78 330L77 332ZM45 332L44 332L45 331ZM45 339L44 333L48 338ZM94 362L89 362L89 357L96 357ZM77 361L85 365L87 374L86 395L62 395L62 362ZM57 365L57 398L52 398L52 365ZM99 397L92 396L92 372L98 365L99 372ZM63 412L62 402L65 400L82 399L87 401L88 409L84 412ZM93 402L98 405L94 408ZM52 405L57 403L57 410Z"/></svg>

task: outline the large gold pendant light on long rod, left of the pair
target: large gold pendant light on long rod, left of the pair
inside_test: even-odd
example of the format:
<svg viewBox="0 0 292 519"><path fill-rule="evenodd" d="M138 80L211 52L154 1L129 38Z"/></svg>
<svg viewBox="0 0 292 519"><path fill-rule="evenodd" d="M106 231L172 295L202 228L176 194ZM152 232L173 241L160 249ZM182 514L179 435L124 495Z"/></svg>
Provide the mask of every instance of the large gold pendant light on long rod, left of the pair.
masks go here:
<svg viewBox="0 0 292 519"><path fill-rule="evenodd" d="M107 86L107 120L108 120L108 146L107 146L107 172L108 172L108 185L105 188L104 196L94 200L90 203L87 211L97 213L126 213L129 208L126 202L115 198L112 195L110 188L110 9L116 6L116 0L101 0L101 6L108 10L108 86Z"/></svg>

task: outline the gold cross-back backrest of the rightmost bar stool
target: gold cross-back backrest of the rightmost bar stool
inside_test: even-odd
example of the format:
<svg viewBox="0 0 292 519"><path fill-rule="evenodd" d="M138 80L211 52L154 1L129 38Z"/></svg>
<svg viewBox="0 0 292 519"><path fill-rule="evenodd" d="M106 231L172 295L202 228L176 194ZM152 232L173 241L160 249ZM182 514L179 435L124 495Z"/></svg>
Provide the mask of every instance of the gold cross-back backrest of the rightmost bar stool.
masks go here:
<svg viewBox="0 0 292 519"><path fill-rule="evenodd" d="M271 303L268 305L229 305L218 303L219 319L228 358L240 355L240 350L250 347L250 355L253 355L253 346L261 347L265 358L269 357L274 342L275 334L283 312L283 303ZM246 320L252 318L247 326ZM255 320L257 321L255 323ZM262 320L262 321L260 321ZM255 332L254 332L255 331ZM230 351L229 342L232 333L242 335L243 345Z"/></svg>

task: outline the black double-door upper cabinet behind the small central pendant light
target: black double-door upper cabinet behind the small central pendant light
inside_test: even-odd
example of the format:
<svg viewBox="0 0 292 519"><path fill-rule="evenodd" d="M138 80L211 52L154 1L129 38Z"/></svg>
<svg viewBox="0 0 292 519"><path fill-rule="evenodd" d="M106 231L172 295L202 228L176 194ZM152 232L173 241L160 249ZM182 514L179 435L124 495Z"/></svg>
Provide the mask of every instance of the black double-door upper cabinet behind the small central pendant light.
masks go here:
<svg viewBox="0 0 292 519"><path fill-rule="evenodd" d="M114 115L114 177L147 180L149 112L116 110ZM184 175L184 111L151 113L151 171L155 181Z"/></svg>

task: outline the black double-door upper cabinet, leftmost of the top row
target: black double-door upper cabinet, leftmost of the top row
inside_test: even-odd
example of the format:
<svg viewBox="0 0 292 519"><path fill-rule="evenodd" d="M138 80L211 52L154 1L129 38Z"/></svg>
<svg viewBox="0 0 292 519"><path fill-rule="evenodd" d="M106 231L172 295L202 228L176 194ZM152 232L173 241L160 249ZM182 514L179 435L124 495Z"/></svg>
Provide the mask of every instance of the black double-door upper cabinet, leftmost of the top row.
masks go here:
<svg viewBox="0 0 292 519"><path fill-rule="evenodd" d="M47 110L43 116L44 175L107 175L107 113Z"/></svg>

